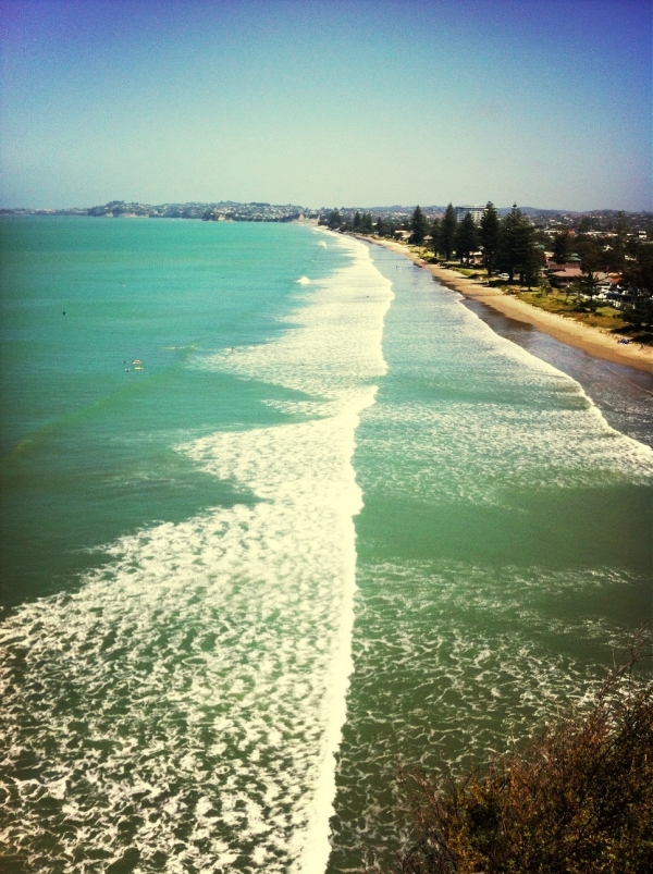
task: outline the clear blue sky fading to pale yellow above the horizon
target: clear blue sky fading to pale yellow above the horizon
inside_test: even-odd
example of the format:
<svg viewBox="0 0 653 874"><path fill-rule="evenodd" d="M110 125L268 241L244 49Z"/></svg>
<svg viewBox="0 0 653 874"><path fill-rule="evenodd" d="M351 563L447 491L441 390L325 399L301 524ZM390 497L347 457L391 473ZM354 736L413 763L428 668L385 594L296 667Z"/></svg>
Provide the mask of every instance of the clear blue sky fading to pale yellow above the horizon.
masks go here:
<svg viewBox="0 0 653 874"><path fill-rule="evenodd" d="M0 0L2 206L651 210L651 0Z"/></svg>

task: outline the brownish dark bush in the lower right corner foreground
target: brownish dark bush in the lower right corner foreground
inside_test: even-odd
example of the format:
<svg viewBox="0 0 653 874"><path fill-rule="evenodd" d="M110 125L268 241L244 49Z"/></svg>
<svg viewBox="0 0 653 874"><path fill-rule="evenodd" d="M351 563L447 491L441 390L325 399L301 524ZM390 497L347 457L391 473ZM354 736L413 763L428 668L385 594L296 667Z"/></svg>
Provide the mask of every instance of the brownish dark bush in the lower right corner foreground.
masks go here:
<svg viewBox="0 0 653 874"><path fill-rule="evenodd" d="M522 754L444 787L404 775L416 842L404 874L653 871L653 684L641 656Z"/></svg>

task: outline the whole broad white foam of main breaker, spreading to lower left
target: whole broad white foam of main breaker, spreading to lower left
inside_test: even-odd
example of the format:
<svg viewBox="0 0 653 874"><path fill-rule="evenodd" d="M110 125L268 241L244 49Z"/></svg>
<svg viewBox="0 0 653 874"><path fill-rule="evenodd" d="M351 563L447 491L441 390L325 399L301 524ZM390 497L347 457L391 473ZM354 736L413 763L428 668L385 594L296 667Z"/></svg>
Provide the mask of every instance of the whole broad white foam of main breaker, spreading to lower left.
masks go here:
<svg viewBox="0 0 653 874"><path fill-rule="evenodd" d="M177 446L250 500L109 544L78 592L2 626L1 841L22 871L323 870L350 672L350 458L391 296L365 249L340 245L349 266L287 336L199 365L316 397L300 421Z"/></svg>

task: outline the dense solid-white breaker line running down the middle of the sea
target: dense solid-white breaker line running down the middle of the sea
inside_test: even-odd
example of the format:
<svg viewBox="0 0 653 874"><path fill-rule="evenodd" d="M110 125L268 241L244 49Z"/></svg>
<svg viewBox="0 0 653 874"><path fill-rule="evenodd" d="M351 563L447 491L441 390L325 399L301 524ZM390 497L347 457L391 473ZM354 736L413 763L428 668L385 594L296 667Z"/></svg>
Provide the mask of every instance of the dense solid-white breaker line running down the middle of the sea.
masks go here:
<svg viewBox="0 0 653 874"><path fill-rule="evenodd" d="M383 330L394 297L391 281L373 263L367 246L337 234L322 233L328 235L330 248L333 243L344 250L347 263L335 267L324 280L306 278L308 282L301 284L310 293L305 298L307 306L293 319L294 330L256 350L243 348L237 356L224 354L214 360L219 369L281 384L316 398L306 406L318 418L313 419L311 411L306 410L308 420L244 435L252 443L252 451L247 453L251 463L245 466L238 461L239 454L231 456L229 435L219 439L220 445L212 439L206 443L199 441L189 452L221 478L235 476L258 497L271 502L271 508L275 504L278 512L291 508L292 516L304 519L305 525L313 519L311 542L303 545L312 553L315 538L323 543L311 574L323 575L330 567L329 603L331 611L337 606L328 632L329 654L318 669L321 676L312 680L322 689L321 713L307 714L307 718L316 727L319 724L320 739L315 766L306 775L308 785L300 813L304 822L288 848L292 874L324 871L331 853L335 756L346 722L349 677L354 669L357 563L354 517L364 506L354 467L356 431L365 410L375 403L378 385L373 383L387 372ZM301 413L295 410L292 402L282 408ZM201 444L208 451L206 454ZM291 446L294 448L288 451Z"/></svg>

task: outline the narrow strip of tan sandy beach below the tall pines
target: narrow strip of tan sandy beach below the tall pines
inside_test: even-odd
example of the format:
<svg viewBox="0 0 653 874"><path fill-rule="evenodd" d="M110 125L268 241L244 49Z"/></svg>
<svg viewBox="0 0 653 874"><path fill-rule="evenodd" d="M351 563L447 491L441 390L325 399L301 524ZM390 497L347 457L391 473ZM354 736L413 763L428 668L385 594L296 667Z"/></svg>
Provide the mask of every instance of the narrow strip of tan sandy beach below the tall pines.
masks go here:
<svg viewBox="0 0 653 874"><path fill-rule="evenodd" d="M481 304L492 307L492 309L510 319L532 324L539 331L550 334L560 343L576 346L576 348L582 349L596 358L603 358L606 361L627 365L638 370L653 373L653 348L650 346L640 348L639 344L634 343L628 345L617 343L617 338L613 334L599 328L590 328L564 316L545 312L496 288L480 285L456 270L431 264L402 243L391 239L370 239L370 237L361 237L361 239L375 243L379 246L385 246L385 248L403 255L418 264L418 267L428 270L438 282L447 288L453 288L465 297L479 300Z"/></svg>

